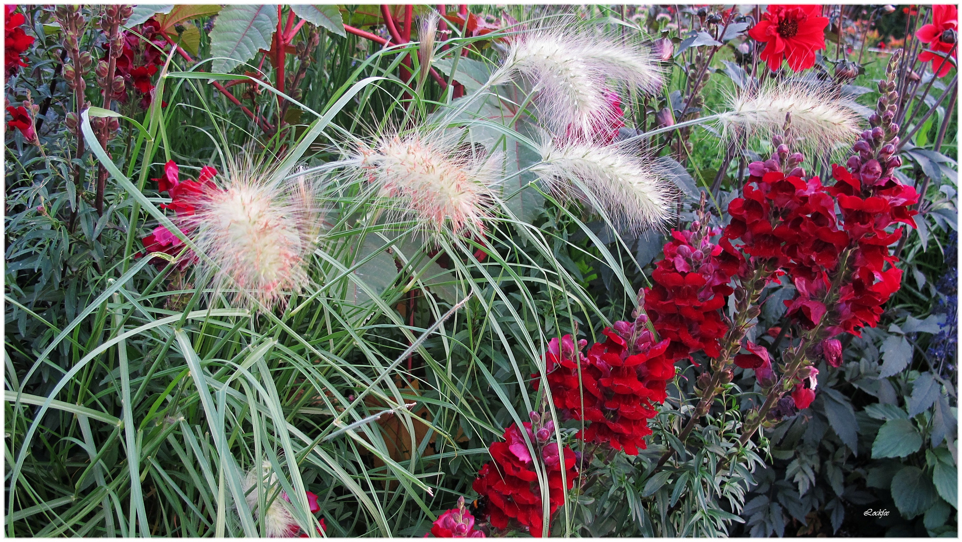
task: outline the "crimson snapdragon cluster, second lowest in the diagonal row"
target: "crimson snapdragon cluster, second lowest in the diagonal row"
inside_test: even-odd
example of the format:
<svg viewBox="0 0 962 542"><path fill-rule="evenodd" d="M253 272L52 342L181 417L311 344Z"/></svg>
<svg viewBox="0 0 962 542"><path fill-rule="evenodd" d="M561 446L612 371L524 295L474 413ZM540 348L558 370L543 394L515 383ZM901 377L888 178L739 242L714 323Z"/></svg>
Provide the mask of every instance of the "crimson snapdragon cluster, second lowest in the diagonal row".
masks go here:
<svg viewBox="0 0 962 542"><path fill-rule="evenodd" d="M670 341L655 342L646 322L644 314L634 325L616 322L587 354L581 353L585 340L575 350L571 335L551 339L545 356L554 405L566 419L589 422L577 437L629 456L646 449L647 421L658 413L654 404L665 401L665 383L674 376L666 356Z"/></svg>

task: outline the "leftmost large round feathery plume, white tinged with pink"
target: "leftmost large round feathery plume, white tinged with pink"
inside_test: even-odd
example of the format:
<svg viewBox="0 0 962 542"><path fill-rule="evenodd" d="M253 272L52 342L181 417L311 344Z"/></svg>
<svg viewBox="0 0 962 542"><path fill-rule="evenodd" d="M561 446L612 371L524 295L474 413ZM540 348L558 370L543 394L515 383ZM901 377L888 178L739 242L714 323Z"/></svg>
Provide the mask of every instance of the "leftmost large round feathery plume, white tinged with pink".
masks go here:
<svg viewBox="0 0 962 542"><path fill-rule="evenodd" d="M320 225L314 189L303 176L269 177L252 164L233 164L186 219L198 248L219 268L210 270L216 288L241 288L266 307L310 283L305 267Z"/></svg>

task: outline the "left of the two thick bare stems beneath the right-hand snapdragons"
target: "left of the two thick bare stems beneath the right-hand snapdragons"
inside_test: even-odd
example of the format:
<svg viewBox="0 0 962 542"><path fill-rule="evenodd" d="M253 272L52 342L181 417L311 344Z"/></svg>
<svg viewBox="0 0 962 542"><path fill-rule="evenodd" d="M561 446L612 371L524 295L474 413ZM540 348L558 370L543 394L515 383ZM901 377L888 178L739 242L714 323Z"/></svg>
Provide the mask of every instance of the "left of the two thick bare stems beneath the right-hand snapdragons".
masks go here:
<svg viewBox="0 0 962 542"><path fill-rule="evenodd" d="M741 301L738 301L736 297L735 321L732 326L728 328L728 333L725 333L724 346L722 347L721 354L712 360L711 369L714 371L712 378L702 391L704 395L702 395L701 400L698 401L698 406L695 407L695 412L692 413L692 417L689 418L684 429L678 434L678 440L682 443L682 446L684 446L685 439L688 438L688 435L695 429L701 416L708 413L712 403L715 401L716 392L720 390L719 386L722 384L722 378L730 368L731 360L738 354L738 351L742 349L742 339L745 338L745 333L747 333L749 328L754 326L751 321L761 312L761 308L758 306L758 298L761 297L762 290L765 289L765 277L772 274L775 264L776 261L770 259L755 269L750 279L740 281L743 284L741 287L744 288L745 296ZM761 287L756 287L758 285ZM673 454L674 449L669 448L668 452L658 459L655 470L660 469Z"/></svg>

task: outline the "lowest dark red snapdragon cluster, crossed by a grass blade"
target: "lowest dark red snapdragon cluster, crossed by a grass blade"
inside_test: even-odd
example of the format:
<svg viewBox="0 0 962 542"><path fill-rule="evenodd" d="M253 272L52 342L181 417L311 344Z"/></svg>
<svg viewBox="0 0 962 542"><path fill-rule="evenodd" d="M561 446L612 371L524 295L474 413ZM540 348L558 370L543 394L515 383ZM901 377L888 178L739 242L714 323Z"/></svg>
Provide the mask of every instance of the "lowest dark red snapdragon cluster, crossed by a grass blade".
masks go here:
<svg viewBox="0 0 962 542"><path fill-rule="evenodd" d="M540 421L537 412L532 412L534 423ZM494 442L489 452L494 459L485 463L478 471L473 488L486 498L485 514L491 525L497 529L507 529L511 520L526 527L532 536L541 536L544 526L542 493L534 462L541 461L547 473L549 515L565 503L565 491L574 484L577 476L575 455L569 447L558 454L557 442L550 442L553 422L543 427L523 424L527 441L517 424L504 431L504 442ZM537 456L532 456L527 442L534 445ZM540 457L538 457L540 456Z"/></svg>

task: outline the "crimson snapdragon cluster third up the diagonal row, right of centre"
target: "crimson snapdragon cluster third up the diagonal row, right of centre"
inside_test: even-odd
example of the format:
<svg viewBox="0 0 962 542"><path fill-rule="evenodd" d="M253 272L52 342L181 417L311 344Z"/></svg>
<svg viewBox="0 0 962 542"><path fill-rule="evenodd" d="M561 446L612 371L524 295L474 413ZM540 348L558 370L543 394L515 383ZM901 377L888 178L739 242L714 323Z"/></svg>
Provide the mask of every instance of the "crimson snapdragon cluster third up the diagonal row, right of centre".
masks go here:
<svg viewBox="0 0 962 542"><path fill-rule="evenodd" d="M651 273L645 310L655 331L671 342L667 356L677 361L698 351L718 357L720 339L728 331L719 309L732 293L728 283L744 258L724 238L711 242L718 229L696 221L692 230L672 231L665 258Z"/></svg>

